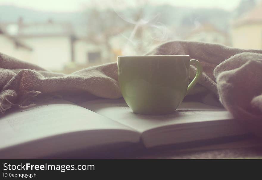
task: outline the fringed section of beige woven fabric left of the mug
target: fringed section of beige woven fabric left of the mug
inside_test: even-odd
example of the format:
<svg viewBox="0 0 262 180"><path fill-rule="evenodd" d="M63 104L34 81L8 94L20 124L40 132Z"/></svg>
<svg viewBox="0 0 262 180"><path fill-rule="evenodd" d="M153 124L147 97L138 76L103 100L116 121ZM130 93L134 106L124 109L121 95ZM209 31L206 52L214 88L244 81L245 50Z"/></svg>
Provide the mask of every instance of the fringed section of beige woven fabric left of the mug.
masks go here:
<svg viewBox="0 0 262 180"><path fill-rule="evenodd" d="M116 63L83 69L66 75L54 73L0 53L0 111L28 107L31 97L60 95L72 101L93 96L119 98ZM39 95L38 95L39 94Z"/></svg>

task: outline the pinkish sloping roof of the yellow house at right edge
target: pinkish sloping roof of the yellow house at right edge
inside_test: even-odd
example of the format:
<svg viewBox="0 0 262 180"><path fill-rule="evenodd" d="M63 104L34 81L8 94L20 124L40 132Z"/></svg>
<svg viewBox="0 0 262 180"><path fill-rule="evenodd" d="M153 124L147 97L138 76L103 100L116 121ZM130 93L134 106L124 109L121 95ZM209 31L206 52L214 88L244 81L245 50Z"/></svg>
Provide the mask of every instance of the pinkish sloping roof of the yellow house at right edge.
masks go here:
<svg viewBox="0 0 262 180"><path fill-rule="evenodd" d="M262 23L262 2L233 22L233 26Z"/></svg>

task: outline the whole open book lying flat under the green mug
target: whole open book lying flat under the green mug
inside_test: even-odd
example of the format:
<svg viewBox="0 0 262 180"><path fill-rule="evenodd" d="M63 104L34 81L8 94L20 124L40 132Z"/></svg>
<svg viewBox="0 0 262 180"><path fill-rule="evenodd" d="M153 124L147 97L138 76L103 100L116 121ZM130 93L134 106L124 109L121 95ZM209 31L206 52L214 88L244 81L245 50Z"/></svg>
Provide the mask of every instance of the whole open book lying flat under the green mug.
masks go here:
<svg viewBox="0 0 262 180"><path fill-rule="evenodd" d="M52 101L0 118L0 158L37 158L114 143L146 148L247 134L220 107L183 102L173 114L138 115L123 99Z"/></svg>

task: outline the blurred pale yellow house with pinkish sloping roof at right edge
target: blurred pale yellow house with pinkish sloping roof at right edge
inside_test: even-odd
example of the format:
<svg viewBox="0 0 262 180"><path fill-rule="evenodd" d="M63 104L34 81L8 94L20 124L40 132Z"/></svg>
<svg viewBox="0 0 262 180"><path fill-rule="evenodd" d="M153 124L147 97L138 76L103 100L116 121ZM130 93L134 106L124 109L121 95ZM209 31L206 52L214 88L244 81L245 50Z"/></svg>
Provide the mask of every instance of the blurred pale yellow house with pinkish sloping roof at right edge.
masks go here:
<svg viewBox="0 0 262 180"><path fill-rule="evenodd" d="M233 22L232 43L237 48L262 49L262 3Z"/></svg>

